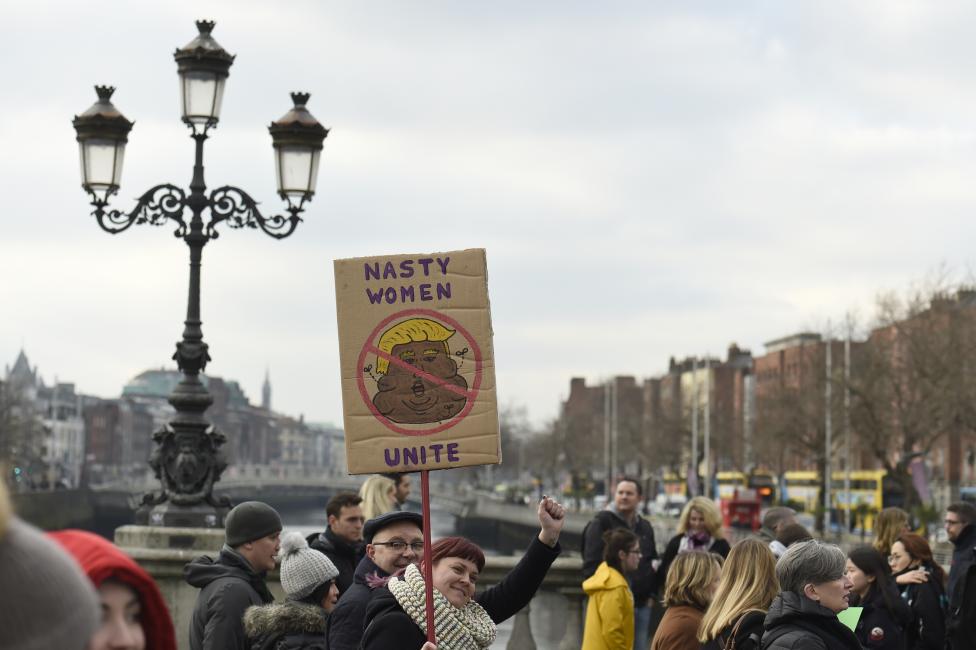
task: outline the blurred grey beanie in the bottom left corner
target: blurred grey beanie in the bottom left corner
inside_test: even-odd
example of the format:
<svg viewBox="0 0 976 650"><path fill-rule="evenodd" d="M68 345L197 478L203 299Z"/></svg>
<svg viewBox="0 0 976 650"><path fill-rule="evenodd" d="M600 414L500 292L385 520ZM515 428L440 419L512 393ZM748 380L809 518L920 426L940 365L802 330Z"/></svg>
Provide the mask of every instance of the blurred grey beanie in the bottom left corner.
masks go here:
<svg viewBox="0 0 976 650"><path fill-rule="evenodd" d="M0 612L0 648L17 650L84 650L102 620L74 558L16 517L0 539Z"/></svg>

